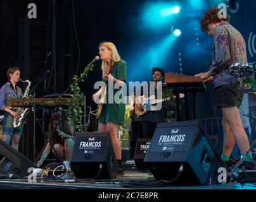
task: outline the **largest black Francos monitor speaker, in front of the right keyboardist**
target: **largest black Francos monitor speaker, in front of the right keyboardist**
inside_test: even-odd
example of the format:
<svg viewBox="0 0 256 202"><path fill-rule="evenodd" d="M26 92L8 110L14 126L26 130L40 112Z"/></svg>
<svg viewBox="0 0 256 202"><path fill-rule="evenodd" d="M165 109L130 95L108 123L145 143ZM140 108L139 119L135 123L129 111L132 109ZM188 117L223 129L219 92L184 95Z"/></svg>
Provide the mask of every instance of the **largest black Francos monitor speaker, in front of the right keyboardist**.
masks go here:
<svg viewBox="0 0 256 202"><path fill-rule="evenodd" d="M144 163L157 181L171 181L184 165L176 185L217 184L217 170L226 167L200 121L158 124Z"/></svg>

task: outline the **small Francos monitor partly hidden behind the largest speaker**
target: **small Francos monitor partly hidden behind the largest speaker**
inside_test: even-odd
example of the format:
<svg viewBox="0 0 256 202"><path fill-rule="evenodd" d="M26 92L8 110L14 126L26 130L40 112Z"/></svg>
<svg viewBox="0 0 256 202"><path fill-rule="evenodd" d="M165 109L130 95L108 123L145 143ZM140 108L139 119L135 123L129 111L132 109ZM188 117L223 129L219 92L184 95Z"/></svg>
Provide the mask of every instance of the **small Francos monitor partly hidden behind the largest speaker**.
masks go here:
<svg viewBox="0 0 256 202"><path fill-rule="evenodd" d="M150 138L138 138L136 142L134 162L136 163L136 168L139 171L148 169L144 163L144 158L148 149L150 148L150 143Z"/></svg>

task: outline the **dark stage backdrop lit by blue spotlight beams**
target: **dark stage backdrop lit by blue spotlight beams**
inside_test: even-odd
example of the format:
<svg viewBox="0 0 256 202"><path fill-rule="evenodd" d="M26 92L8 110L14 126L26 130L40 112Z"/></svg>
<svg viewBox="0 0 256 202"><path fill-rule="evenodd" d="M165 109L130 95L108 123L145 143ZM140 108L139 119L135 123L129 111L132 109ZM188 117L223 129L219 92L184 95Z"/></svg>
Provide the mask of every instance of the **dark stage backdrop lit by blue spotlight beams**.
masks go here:
<svg viewBox="0 0 256 202"><path fill-rule="evenodd" d="M10 66L20 66L22 79L29 79L32 85L49 69L46 85L42 80L36 97L61 93L70 85L72 76L82 72L98 54L98 45L103 41L113 42L127 62L127 81L151 80L154 66L188 75L208 71L213 39L200 30L200 19L208 8L221 2L226 1L1 0L0 86L6 82ZM37 5L37 19L27 18L29 3ZM231 24L240 30L249 45L250 33L256 34L256 3L252 0L238 3L236 13L230 9L227 12ZM152 8L175 4L181 6L178 15L157 21ZM179 28L182 35L169 42L172 26ZM250 47L252 45L255 44L251 42ZM255 60L255 53L252 50L251 56L248 52L249 62ZM80 85L86 95L86 105L93 109L96 109L91 99L96 91L93 85L99 80L101 62L98 61ZM207 93L199 93L197 97L198 119L220 116L213 107L212 85L207 87ZM41 111L38 113L40 117ZM38 141L41 142L40 138Z"/></svg>

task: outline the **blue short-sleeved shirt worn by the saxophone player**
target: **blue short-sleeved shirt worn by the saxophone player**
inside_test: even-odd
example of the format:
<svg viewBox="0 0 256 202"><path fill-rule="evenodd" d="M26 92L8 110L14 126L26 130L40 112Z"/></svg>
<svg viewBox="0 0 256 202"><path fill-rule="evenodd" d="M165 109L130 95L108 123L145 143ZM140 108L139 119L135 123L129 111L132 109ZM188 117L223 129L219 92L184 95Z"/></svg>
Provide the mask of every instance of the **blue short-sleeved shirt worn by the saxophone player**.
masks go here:
<svg viewBox="0 0 256 202"><path fill-rule="evenodd" d="M10 98L22 98L22 89L16 85L16 92L10 82L0 88L0 110L6 109Z"/></svg>

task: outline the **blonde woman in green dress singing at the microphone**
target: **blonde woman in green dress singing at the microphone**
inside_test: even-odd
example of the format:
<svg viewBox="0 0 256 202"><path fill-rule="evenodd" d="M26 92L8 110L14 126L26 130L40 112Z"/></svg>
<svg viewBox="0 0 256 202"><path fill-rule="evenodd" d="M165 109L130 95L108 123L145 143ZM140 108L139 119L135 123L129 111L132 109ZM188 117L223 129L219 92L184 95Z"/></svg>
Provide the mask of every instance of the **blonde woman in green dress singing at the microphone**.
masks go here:
<svg viewBox="0 0 256 202"><path fill-rule="evenodd" d="M120 59L117 48L112 42L103 42L99 45L99 57L102 61L101 69L103 72L103 80L108 83L110 80L114 84L124 85L126 82L127 68L125 61ZM102 88L93 95L93 100L96 100L101 95ZM121 89L122 90L122 89ZM114 89L112 95L119 92L119 89ZM122 97L122 93L119 97ZM118 124L124 124L125 121L125 104L124 102L117 104L114 98L108 97L108 87L106 88L107 103L103 105L101 115L99 117L98 131L109 131L112 139L115 157L118 163L118 174L123 174L122 168L122 150L120 141L117 138ZM113 104L108 103L108 100L113 100Z"/></svg>

